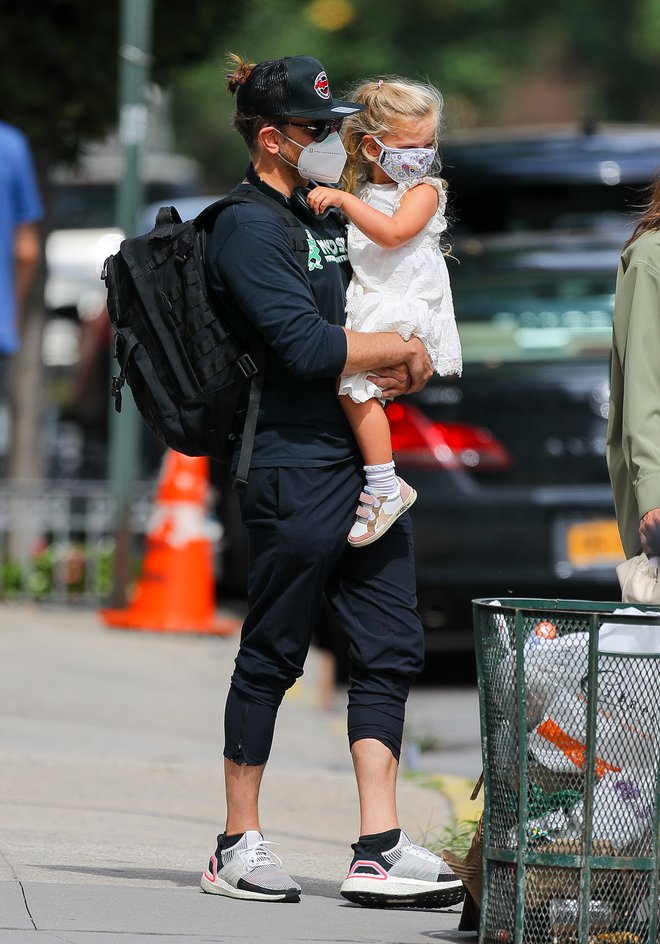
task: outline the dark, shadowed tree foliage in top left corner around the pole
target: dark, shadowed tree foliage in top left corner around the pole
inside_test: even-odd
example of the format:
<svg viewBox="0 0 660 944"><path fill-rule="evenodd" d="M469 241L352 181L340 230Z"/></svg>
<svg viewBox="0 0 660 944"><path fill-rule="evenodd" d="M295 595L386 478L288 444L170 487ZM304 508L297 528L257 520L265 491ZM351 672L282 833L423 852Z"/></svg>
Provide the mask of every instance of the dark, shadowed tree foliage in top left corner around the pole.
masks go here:
<svg viewBox="0 0 660 944"><path fill-rule="evenodd" d="M168 85L207 55L240 5L154 2L152 77ZM0 0L0 118L28 135L41 167L74 159L117 120L119 0Z"/></svg>

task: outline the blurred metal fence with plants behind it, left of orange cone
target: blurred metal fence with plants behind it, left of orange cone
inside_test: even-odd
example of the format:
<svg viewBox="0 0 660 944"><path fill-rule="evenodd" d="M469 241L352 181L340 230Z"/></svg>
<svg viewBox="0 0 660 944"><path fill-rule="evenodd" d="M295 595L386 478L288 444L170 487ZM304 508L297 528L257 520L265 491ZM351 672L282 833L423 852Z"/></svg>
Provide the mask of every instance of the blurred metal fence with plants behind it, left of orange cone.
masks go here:
<svg viewBox="0 0 660 944"><path fill-rule="evenodd" d="M155 483L133 490L139 568ZM93 606L112 592L115 501L105 481L0 481L0 599Z"/></svg>

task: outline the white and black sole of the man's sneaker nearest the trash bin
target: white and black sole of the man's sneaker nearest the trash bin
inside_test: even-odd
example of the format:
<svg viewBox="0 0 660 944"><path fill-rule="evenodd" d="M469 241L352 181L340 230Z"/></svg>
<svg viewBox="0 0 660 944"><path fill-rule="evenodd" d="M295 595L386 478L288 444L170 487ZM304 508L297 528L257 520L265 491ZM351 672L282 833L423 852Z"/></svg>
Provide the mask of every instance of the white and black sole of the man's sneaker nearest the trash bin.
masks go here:
<svg viewBox="0 0 660 944"><path fill-rule="evenodd" d="M417 879L351 878L346 879L340 892L348 901L365 908L449 908L463 901L465 886L460 879L438 885Z"/></svg>

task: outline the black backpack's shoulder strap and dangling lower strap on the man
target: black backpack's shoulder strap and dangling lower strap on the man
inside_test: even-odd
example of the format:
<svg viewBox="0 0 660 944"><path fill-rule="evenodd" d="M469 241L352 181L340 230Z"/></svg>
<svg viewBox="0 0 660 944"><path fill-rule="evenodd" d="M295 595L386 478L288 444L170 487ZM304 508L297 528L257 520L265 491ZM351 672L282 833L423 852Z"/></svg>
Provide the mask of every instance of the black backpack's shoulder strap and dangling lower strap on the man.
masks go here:
<svg viewBox="0 0 660 944"><path fill-rule="evenodd" d="M303 271L307 271L307 259L309 254L309 244L307 234L302 224L294 216L291 210L287 210L277 200L267 197L261 191L245 184L239 184L227 197L222 200L216 200L210 206L207 206L195 218L195 225L199 229L210 230L215 223L218 214L225 207L236 206L239 203L259 203L268 207L272 213L277 216L284 227L284 231L289 240L291 249L298 257ZM261 403L261 391L263 389L264 368L266 363L266 346L260 342L259 351L255 353L255 359L258 361L257 370L250 379L250 392L248 395L248 405L245 414L245 423L243 424L243 436L241 439L241 451L238 456L238 466L234 476L234 487L245 488L247 485L248 472L250 471L250 462L252 460L252 448L254 446L254 437L257 429L257 417L259 415L259 404Z"/></svg>

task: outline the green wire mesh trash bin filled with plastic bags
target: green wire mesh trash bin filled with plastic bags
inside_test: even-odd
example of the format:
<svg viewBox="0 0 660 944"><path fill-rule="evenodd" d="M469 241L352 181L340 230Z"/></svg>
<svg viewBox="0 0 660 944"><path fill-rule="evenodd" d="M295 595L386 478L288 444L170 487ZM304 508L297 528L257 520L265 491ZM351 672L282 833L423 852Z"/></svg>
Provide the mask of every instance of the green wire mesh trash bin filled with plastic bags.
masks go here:
<svg viewBox="0 0 660 944"><path fill-rule="evenodd" d="M480 944L660 939L660 608L474 600Z"/></svg>

